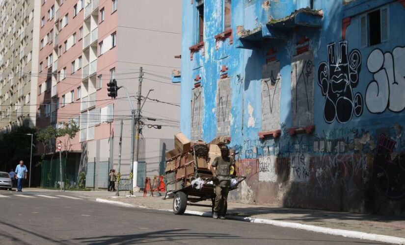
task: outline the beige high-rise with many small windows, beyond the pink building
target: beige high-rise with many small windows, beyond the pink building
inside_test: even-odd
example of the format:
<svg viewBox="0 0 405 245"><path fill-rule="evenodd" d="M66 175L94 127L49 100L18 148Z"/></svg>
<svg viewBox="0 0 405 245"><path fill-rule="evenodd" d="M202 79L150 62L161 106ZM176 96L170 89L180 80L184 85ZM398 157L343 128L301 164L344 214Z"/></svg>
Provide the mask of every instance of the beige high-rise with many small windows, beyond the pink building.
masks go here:
<svg viewBox="0 0 405 245"><path fill-rule="evenodd" d="M35 126L40 0L0 0L0 131Z"/></svg>

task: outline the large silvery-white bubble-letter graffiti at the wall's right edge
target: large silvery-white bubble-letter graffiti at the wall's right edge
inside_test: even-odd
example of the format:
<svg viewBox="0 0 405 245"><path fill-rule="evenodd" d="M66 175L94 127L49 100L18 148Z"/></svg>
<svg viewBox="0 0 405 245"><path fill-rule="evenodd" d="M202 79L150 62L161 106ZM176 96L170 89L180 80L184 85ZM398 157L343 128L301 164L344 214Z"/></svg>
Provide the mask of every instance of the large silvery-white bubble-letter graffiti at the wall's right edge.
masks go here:
<svg viewBox="0 0 405 245"><path fill-rule="evenodd" d="M366 106L371 113L405 109L405 47L383 53L374 49L367 58L367 69L374 80L366 90Z"/></svg>

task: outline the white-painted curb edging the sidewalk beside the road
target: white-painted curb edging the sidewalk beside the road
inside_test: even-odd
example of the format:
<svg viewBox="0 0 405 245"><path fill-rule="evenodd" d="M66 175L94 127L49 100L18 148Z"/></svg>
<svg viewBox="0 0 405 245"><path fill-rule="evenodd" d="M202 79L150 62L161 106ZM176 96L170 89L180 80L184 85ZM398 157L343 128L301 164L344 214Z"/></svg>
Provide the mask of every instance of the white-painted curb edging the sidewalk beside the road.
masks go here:
<svg viewBox="0 0 405 245"><path fill-rule="evenodd" d="M110 200L106 200L106 199L102 199L102 198L97 198L96 201L109 203L109 204L116 204L116 205L121 205L121 206L126 206L126 207L155 209L155 208L150 208L150 207L145 207L145 206L134 206L134 205L128 204L128 203L124 203L124 202L120 202L120 201L110 201ZM171 209L155 209L155 210L173 212L173 210L171 210ZM186 211L185 214L202 216L202 217L212 217L211 213L207 213L207 212L204 213L204 212L199 212L199 211ZM306 230L306 231L323 233L323 234L333 235L333 236L343 236L346 238L405 245L405 238L401 238L401 237L378 235L378 234L372 234L372 233L366 233L366 232L360 232L360 231L332 229L332 228L326 228L326 227L321 227L321 226L300 224L300 223L286 222L286 221L256 219L256 218L238 217L238 216L227 216L226 218L229 220L245 221L245 222L256 223L256 224L269 224L269 225L274 225L274 226L278 226L278 227Z"/></svg>

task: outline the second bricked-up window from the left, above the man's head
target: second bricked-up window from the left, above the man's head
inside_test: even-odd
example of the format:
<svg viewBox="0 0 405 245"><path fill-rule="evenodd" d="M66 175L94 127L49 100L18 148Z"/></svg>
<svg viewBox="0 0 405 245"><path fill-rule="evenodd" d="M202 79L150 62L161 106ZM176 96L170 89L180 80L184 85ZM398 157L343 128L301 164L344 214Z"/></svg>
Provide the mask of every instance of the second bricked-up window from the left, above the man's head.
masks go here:
<svg viewBox="0 0 405 245"><path fill-rule="evenodd" d="M216 134L228 136L230 132L232 106L231 79L218 80L216 92Z"/></svg>

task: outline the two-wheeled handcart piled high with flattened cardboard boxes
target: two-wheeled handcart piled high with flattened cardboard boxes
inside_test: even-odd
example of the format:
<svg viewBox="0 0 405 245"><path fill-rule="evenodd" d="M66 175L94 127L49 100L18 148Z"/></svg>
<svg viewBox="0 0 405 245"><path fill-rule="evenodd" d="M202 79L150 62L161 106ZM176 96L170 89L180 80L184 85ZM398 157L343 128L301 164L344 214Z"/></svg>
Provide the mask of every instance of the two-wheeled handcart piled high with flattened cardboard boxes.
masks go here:
<svg viewBox="0 0 405 245"><path fill-rule="evenodd" d="M166 153L166 196L173 196L173 212L182 215L187 205L214 207L214 179L211 164L221 155L218 145L229 144L228 137L218 137L209 144L189 141L183 133L175 135L175 148ZM235 190L245 177L233 178ZM209 200L211 204L197 204ZM226 213L227 204L225 204Z"/></svg>

